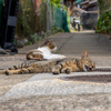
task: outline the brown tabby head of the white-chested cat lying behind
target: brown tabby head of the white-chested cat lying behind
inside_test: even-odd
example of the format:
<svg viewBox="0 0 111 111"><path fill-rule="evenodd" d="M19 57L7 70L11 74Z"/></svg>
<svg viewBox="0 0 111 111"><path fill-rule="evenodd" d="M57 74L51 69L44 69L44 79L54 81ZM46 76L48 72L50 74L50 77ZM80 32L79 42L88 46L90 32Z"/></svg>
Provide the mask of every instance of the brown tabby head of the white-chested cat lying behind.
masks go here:
<svg viewBox="0 0 111 111"><path fill-rule="evenodd" d="M57 50L56 43L52 40L46 40L41 47L48 47L51 51Z"/></svg>

